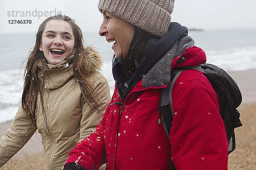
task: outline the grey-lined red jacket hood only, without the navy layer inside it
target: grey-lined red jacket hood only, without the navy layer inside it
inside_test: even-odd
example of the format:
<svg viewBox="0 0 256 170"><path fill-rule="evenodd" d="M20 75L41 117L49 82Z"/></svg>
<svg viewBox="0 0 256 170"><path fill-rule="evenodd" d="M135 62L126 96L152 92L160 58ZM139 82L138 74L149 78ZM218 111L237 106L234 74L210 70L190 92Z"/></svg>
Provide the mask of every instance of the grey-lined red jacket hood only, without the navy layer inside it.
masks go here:
<svg viewBox="0 0 256 170"><path fill-rule="evenodd" d="M181 38L173 47L143 76L143 88L157 87L169 83L173 68L196 66L206 62L206 55L194 45L191 37Z"/></svg>

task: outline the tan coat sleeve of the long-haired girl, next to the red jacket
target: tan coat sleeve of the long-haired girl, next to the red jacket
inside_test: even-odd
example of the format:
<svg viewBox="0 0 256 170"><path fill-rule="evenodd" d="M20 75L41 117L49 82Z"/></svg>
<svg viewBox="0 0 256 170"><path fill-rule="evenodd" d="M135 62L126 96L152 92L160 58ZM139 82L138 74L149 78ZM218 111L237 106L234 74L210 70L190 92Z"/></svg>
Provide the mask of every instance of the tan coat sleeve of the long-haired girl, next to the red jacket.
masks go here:
<svg viewBox="0 0 256 170"><path fill-rule="evenodd" d="M82 117L80 123L80 137L79 141L81 142L85 137L89 136L90 133L95 130L96 125L98 125L105 113L105 109L110 102L110 91L108 82L105 77L100 74L97 76L99 78L96 79L96 88L94 93L98 96L98 103L100 107L100 113L96 113L92 108L88 105L88 103L83 99L82 102Z"/></svg>

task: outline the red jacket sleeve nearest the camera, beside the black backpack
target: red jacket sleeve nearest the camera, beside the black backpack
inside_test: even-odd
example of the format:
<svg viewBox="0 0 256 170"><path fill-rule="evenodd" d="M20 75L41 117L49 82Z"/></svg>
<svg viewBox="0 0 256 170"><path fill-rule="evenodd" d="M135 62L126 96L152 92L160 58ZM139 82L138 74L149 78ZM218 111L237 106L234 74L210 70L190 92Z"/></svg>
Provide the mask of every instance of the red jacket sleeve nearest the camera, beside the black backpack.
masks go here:
<svg viewBox="0 0 256 170"><path fill-rule="evenodd" d="M201 72L190 73L183 71L172 91L173 163L176 170L227 170L227 135L217 95Z"/></svg>

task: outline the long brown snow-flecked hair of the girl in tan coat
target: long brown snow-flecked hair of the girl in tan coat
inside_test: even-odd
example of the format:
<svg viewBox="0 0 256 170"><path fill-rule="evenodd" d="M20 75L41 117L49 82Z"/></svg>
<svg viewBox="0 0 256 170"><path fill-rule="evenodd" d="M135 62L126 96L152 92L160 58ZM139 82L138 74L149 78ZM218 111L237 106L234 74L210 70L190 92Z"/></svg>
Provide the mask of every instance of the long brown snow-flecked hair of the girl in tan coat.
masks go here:
<svg viewBox="0 0 256 170"><path fill-rule="evenodd" d="M73 47L72 55L73 59L69 63L73 62L73 72L74 79L79 82L81 93L84 98L87 99L88 104L95 111L99 111L99 104L97 103L97 95L93 94L94 87L93 82L90 79L90 76L93 74L93 71L99 70L100 65L102 64L99 54L92 47L84 48L84 40L82 36L82 31L79 26L76 25L75 20L71 19L65 15L56 15L47 18L38 28L36 34L35 46L32 51L29 53L27 58L26 68L24 72L25 82L23 87L22 101L21 105L23 111L30 117L31 125L35 124L35 112L37 106L38 95L40 95L41 106L43 109L44 122L47 125L47 119L44 111L44 102L43 102L43 88L44 88L44 72L39 75L39 65L45 65L47 59L44 57L43 51L39 50L40 44L42 42L42 33L45 29L45 26L50 20L63 20L70 24L73 29L73 34L75 36L75 42ZM90 51L89 51L90 50ZM91 63L88 62L88 55L91 57L98 57L95 65L93 65L93 70ZM68 58L68 57L67 57ZM89 58L89 60L90 60ZM47 127L48 128L48 127Z"/></svg>

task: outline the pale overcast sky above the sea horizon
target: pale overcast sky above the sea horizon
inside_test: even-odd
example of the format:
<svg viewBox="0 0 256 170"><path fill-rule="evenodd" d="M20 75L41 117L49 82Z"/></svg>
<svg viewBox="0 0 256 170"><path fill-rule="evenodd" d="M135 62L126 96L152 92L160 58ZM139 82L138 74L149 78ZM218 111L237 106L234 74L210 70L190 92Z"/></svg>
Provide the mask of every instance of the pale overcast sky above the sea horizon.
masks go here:
<svg viewBox="0 0 256 170"><path fill-rule="evenodd" d="M102 14L97 5L98 0L0 0L0 32L36 32L46 18L39 17L38 12L54 10L75 19L82 31L97 32L102 22ZM175 0L172 20L188 28L256 28L255 7L256 0ZM21 17L21 12L15 13L35 10L36 17ZM32 20L32 23L20 25L9 24L8 21L20 19Z"/></svg>

